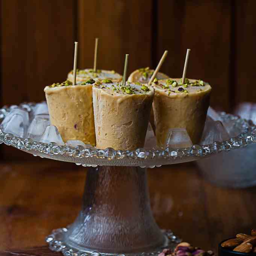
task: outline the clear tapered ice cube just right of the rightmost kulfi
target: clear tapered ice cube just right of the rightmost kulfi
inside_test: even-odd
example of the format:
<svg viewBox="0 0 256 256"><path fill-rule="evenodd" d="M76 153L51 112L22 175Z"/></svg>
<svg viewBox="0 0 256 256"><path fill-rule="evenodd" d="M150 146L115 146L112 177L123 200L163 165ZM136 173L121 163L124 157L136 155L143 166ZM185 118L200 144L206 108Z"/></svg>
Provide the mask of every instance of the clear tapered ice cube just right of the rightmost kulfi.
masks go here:
<svg viewBox="0 0 256 256"><path fill-rule="evenodd" d="M212 144L215 141L222 142L229 138L229 133L221 121L214 121L211 117L206 117L200 145Z"/></svg>

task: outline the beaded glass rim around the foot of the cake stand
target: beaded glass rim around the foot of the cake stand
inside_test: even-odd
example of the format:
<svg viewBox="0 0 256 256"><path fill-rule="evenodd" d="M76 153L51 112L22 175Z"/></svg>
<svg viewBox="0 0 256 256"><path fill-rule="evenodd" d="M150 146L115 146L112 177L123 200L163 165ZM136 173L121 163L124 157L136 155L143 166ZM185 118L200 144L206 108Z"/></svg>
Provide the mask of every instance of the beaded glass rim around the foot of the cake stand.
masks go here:
<svg viewBox="0 0 256 256"><path fill-rule="evenodd" d="M52 234L45 238L50 250L61 252L64 256L158 256L164 248L171 248L179 244L182 240L178 238L171 230L162 230L165 235L165 245L155 248L155 250L141 252L141 253L103 253L99 251L80 251L76 248L70 247L64 240L64 233L68 231L67 228L55 229Z"/></svg>

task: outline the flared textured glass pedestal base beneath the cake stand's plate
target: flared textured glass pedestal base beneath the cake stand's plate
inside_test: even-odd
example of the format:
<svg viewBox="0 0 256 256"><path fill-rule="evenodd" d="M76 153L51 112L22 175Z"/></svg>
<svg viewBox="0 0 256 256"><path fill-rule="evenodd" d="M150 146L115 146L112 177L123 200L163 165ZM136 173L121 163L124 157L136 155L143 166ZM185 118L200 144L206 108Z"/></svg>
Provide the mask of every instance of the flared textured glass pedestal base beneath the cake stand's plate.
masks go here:
<svg viewBox="0 0 256 256"><path fill-rule="evenodd" d="M114 166L89 168L82 211L46 241L65 256L155 255L180 242L171 231L160 230L153 218L147 170Z"/></svg>

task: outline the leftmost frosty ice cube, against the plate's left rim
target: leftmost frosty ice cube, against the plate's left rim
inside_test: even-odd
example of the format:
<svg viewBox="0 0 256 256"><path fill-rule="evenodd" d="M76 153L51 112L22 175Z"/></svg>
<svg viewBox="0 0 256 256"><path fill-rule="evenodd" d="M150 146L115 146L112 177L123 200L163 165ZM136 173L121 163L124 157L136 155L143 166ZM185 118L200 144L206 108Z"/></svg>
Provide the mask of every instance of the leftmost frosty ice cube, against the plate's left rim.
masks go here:
<svg viewBox="0 0 256 256"><path fill-rule="evenodd" d="M25 138L28 126L28 112L20 108L14 108L6 115L0 129L2 129L3 132L12 133L20 138Z"/></svg>

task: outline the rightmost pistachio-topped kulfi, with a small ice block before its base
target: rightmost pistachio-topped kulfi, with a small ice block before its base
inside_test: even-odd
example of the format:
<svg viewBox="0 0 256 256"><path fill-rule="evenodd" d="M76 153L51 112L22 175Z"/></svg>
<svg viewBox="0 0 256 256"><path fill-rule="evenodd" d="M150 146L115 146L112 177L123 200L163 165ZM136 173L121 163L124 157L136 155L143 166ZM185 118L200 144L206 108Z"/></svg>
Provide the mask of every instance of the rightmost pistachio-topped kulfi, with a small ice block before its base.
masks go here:
<svg viewBox="0 0 256 256"><path fill-rule="evenodd" d="M207 110L211 86L201 80L186 79L155 80L153 101L156 138L164 147L171 128L186 128L193 144L200 141Z"/></svg>

